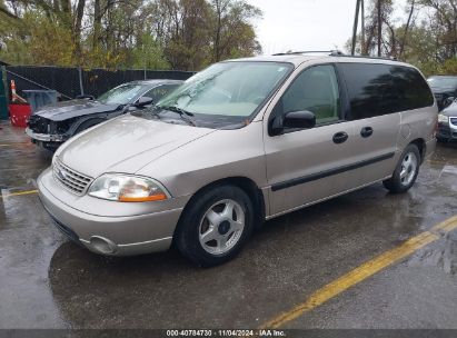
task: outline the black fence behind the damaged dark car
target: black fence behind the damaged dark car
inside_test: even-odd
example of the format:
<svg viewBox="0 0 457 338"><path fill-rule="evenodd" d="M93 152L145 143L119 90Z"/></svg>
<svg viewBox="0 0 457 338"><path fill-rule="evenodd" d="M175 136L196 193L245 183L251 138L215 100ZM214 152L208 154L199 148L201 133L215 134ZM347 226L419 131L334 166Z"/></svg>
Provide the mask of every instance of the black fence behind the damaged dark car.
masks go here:
<svg viewBox="0 0 457 338"><path fill-rule="evenodd" d="M59 100L73 99L81 95L99 97L103 92L121 83L145 79L186 80L193 72L178 70L106 70L80 68L62 68L46 66L8 66L7 80L16 81L17 92L22 90L52 89L58 92Z"/></svg>

